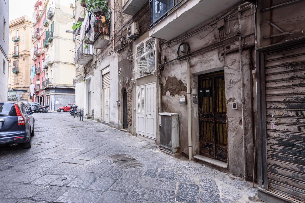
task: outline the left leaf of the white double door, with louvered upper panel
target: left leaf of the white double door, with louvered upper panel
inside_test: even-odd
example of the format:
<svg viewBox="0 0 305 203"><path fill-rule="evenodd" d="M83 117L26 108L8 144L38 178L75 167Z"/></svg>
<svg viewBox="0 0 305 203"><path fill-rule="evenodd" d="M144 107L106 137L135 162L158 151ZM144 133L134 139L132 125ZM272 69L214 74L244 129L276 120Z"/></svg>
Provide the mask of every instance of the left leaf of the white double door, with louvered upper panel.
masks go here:
<svg viewBox="0 0 305 203"><path fill-rule="evenodd" d="M137 103L137 134L145 136L145 86L136 88Z"/></svg>

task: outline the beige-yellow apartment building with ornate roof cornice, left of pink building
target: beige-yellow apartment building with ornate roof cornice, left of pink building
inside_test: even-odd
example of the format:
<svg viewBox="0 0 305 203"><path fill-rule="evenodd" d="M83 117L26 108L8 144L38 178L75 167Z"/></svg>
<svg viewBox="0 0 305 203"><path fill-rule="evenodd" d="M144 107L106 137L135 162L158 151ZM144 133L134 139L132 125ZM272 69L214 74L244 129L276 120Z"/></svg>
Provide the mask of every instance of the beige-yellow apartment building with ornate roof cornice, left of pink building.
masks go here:
<svg viewBox="0 0 305 203"><path fill-rule="evenodd" d="M28 16L9 22L9 100L32 101L30 97L33 26Z"/></svg>

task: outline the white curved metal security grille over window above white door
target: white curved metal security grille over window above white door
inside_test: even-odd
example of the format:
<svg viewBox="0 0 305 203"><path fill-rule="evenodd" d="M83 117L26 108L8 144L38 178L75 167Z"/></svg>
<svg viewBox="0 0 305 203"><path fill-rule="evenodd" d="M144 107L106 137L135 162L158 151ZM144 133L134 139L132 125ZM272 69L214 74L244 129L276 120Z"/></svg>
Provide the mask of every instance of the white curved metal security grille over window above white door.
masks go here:
<svg viewBox="0 0 305 203"><path fill-rule="evenodd" d="M135 60L135 68L132 74L135 78L151 74L156 67L155 39L150 38L136 46L136 53L130 59Z"/></svg>

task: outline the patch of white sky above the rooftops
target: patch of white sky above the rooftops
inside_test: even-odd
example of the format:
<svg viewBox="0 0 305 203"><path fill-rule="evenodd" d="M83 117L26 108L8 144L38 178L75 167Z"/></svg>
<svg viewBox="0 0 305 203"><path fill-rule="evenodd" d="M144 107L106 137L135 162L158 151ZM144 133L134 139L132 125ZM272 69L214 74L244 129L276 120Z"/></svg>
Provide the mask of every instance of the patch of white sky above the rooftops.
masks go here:
<svg viewBox="0 0 305 203"><path fill-rule="evenodd" d="M23 15L32 18L36 2L37 0L9 0L9 21L15 20Z"/></svg>

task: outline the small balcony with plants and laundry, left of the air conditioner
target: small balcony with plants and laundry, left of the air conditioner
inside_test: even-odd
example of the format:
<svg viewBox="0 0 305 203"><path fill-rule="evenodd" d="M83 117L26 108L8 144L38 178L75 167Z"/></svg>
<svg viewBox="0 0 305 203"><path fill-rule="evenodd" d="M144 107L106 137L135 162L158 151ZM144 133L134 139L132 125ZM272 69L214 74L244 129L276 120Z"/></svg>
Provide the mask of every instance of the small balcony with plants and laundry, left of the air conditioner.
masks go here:
<svg viewBox="0 0 305 203"><path fill-rule="evenodd" d="M95 49L102 49L110 40L110 23L106 22L105 17L96 20L94 25L94 42L93 46ZM86 43L92 44L90 40L87 39Z"/></svg>

